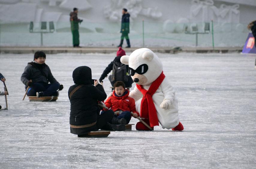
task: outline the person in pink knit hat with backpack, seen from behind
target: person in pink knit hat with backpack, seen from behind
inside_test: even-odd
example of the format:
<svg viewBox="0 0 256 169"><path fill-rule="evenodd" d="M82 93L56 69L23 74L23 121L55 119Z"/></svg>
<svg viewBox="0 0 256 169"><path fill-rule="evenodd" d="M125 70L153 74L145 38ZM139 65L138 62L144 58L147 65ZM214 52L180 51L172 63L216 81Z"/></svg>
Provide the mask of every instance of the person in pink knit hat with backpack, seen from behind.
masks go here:
<svg viewBox="0 0 256 169"><path fill-rule="evenodd" d="M104 80L104 78L107 77L112 70L112 75L109 75L109 81L112 86L114 86L115 82L117 81L124 82L125 86L127 86L128 88L132 86L133 80L128 73L128 65L125 65L120 61L120 58L124 55L126 55L124 49L119 47L114 61L112 61L106 67L106 69L103 71L102 75L100 76L100 79L99 79L100 82L103 82L102 80Z"/></svg>

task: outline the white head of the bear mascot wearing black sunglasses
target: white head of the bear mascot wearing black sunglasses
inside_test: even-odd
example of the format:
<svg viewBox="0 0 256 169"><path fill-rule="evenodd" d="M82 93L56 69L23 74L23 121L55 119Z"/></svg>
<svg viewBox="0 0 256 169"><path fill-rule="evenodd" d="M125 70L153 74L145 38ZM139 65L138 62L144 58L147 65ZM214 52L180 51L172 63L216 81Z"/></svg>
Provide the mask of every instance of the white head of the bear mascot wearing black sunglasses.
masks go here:
<svg viewBox="0 0 256 169"><path fill-rule="evenodd" d="M149 85L163 71L162 62L147 48L137 49L130 56L122 56L121 62L129 65L129 74L138 85Z"/></svg>

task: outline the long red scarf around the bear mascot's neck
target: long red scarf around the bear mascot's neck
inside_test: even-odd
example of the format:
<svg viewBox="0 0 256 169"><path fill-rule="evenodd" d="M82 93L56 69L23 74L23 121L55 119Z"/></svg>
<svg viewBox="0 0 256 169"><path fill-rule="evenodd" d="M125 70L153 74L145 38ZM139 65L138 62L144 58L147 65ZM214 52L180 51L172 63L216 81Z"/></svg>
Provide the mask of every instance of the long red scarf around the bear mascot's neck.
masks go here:
<svg viewBox="0 0 256 169"><path fill-rule="evenodd" d="M141 100L141 117L149 119L150 127L159 125L152 96L159 88L164 78L165 75L162 72L161 75L153 81L148 90L144 89L142 85L136 84L138 90L143 94Z"/></svg>

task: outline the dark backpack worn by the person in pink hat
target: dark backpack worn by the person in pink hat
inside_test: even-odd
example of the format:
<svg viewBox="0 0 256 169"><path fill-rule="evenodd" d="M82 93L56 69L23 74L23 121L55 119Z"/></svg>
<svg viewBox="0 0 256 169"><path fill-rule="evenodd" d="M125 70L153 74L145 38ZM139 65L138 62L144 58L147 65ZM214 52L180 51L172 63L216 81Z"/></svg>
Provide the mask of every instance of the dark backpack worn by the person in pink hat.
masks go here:
<svg viewBox="0 0 256 169"><path fill-rule="evenodd" d="M126 65L121 62L114 62L111 81L128 82L128 80L129 75L127 73Z"/></svg>

